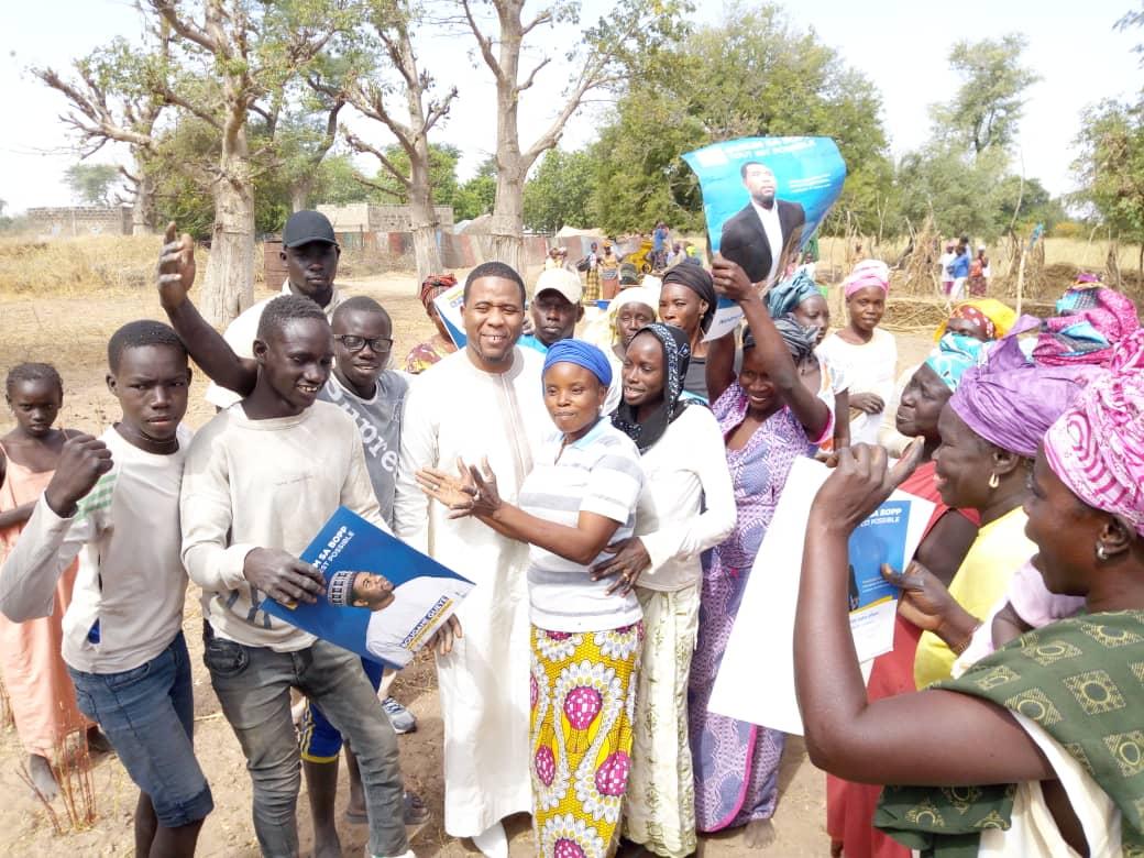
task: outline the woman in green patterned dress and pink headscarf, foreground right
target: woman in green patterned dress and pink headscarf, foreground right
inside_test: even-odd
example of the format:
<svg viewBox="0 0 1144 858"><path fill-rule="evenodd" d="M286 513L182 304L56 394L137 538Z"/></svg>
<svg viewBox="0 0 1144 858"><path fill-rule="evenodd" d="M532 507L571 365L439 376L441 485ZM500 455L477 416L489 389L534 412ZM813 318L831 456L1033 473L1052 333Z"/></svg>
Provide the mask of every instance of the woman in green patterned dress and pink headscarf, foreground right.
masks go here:
<svg viewBox="0 0 1144 858"><path fill-rule="evenodd" d="M1083 597L1086 613L1025 635L960 680L871 702L853 658L847 540L909 472L916 448L892 469L881 451L843 451L816 498L795 621L807 746L829 772L920 785L887 786L874 818L907 848L1144 851L1142 358L1141 336L1117 349L1049 428L1030 477L1033 564L1051 591Z"/></svg>

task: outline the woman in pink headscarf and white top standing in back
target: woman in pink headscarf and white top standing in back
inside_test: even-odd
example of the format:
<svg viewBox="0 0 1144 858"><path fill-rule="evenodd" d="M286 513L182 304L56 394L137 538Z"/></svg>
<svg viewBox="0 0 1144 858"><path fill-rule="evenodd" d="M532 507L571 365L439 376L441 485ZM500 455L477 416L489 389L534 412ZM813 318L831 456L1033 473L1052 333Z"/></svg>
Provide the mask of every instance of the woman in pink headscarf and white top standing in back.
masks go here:
<svg viewBox="0 0 1144 858"><path fill-rule="evenodd" d="M882 412L893 395L898 344L879 327L885 315L890 269L881 260L865 260L842 281L848 323L818 347L835 366L844 366L850 381L850 442L876 444ZM845 415L836 415L844 420Z"/></svg>

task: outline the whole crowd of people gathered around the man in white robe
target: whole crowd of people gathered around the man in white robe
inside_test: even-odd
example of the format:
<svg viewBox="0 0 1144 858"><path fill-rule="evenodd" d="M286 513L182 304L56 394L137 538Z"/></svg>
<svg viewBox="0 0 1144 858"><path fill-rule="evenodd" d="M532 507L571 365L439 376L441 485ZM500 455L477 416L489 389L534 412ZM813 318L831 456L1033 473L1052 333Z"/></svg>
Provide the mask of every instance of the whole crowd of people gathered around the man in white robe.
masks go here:
<svg viewBox="0 0 1144 858"><path fill-rule="evenodd" d="M318 213L286 224L281 294L224 335L189 297L193 249L172 224L169 324L111 336L110 427L55 426L58 374L11 368L0 667L38 782L62 736L110 746L140 788L136 855L193 855L213 799L190 580L262 853L299 853L304 776L316 855L340 855L344 749L368 853L411 856L406 825L428 812L403 788L391 670L263 610L328 598L297 556L345 506L476 583L430 642L448 834L502 858L502 820L529 813L542 856L682 858L734 827L764 847L785 736L707 704L745 588L771 572L757 555L792 466L817 456L834 470L807 522L794 662L832 853L1144 849L1135 304L1093 278L1047 319L959 303L897 376L880 261L845 278L831 333L807 269L761 288L716 256L619 291L611 249L595 269L611 300L587 323L593 280L569 267L530 300L509 265L477 265L460 349L434 303L456 280L428 278L437 333L403 364L384 308L336 288ZM744 323L708 342L720 299ZM219 407L193 436L191 359ZM867 681L847 545L899 486L934 513L906 567L883 570L895 646Z"/></svg>

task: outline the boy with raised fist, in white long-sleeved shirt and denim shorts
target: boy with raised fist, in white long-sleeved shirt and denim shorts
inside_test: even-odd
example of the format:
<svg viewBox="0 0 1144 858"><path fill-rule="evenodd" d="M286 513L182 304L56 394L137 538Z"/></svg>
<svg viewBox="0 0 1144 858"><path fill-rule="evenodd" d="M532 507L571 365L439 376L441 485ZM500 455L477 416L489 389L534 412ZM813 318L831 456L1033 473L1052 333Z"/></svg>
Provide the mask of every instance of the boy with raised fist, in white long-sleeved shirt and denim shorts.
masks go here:
<svg viewBox="0 0 1144 858"><path fill-rule="evenodd" d="M190 431L186 350L168 326L132 321L108 343L122 414L100 438L64 443L56 472L0 572L14 622L51 613L79 555L63 658L80 710L100 723L140 788L136 856L192 856L214 808L194 758L186 572L178 493Z"/></svg>

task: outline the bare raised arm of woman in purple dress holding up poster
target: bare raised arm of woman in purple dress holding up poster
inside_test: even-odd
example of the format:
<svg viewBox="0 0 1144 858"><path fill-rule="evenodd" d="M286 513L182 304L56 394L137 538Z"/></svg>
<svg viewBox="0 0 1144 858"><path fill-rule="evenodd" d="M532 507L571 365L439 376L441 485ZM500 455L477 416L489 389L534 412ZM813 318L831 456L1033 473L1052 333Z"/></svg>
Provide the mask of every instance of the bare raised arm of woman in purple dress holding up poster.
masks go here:
<svg viewBox="0 0 1144 858"><path fill-rule="evenodd" d="M766 305L754 288L750 278L742 268L722 256L715 257L713 265L715 289L742 308L750 333L755 336L755 348L766 364L766 374L791 406L791 411L802 423L810 438L821 438L831 424L831 410L818 396L807 389L799 378L799 367L794 365L791 351L782 341L782 335L771 321Z"/></svg>

